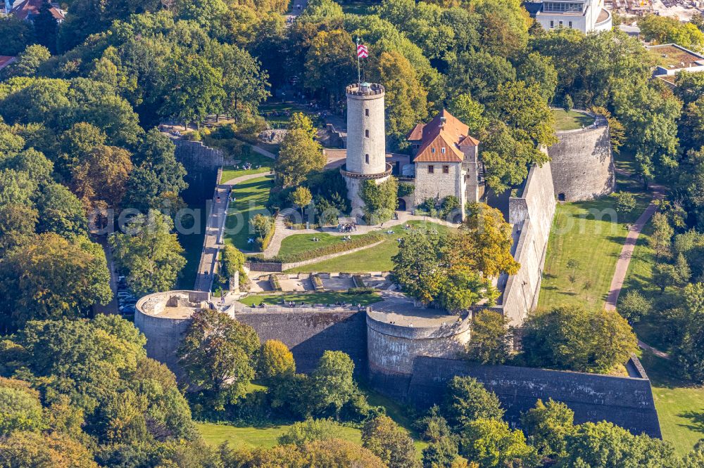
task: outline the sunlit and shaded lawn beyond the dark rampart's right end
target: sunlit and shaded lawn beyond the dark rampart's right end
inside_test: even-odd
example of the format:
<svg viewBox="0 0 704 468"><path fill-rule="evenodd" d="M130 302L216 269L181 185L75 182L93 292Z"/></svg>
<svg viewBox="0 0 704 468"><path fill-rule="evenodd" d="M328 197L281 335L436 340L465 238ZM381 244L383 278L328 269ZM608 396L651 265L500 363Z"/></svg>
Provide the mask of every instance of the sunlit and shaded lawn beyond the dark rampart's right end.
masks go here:
<svg viewBox="0 0 704 468"><path fill-rule="evenodd" d="M648 351L643 351L641 363L653 387L662 438L684 455L704 438L704 387L678 379L673 375L672 363Z"/></svg>

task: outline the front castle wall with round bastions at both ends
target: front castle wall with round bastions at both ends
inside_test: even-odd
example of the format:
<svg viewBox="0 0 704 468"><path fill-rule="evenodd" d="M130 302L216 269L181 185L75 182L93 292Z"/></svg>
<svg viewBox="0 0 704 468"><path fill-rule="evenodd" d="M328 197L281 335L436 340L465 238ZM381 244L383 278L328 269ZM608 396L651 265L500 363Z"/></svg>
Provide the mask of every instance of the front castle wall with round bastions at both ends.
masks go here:
<svg viewBox="0 0 704 468"><path fill-rule="evenodd" d="M222 313L256 330L260 340L286 344L300 372L310 372L325 351L344 351L360 375L406 391L417 356L457 358L470 339L470 319L416 308L412 301L382 301L373 307L263 306L237 301L219 304L207 292L169 291L137 301L134 324L146 337L146 353L180 374L176 351L203 308Z"/></svg>

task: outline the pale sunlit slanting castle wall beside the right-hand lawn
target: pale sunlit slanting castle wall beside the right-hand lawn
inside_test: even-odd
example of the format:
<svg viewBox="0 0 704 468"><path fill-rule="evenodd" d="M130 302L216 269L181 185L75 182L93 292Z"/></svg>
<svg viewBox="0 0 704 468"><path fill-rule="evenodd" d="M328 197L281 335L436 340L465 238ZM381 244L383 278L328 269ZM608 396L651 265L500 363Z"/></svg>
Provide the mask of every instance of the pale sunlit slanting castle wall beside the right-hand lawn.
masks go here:
<svg viewBox="0 0 704 468"><path fill-rule="evenodd" d="M508 222L520 229L513 256L521 264L516 275L508 277L499 305L511 325L519 326L535 308L543 279L545 254L555 214L551 162L530 169L523 193L509 200Z"/></svg>

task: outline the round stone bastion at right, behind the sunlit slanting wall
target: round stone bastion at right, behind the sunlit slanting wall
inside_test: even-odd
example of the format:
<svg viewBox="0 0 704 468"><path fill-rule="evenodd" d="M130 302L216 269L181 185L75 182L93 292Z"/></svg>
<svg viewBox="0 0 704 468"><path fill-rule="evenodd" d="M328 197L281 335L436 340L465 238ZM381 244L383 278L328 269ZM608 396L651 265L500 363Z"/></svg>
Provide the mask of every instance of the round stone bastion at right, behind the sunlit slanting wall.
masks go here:
<svg viewBox="0 0 704 468"><path fill-rule="evenodd" d="M606 119L585 111L594 123L584 129L558 131L548 148L555 198L577 202L608 195L614 189L615 170Z"/></svg>

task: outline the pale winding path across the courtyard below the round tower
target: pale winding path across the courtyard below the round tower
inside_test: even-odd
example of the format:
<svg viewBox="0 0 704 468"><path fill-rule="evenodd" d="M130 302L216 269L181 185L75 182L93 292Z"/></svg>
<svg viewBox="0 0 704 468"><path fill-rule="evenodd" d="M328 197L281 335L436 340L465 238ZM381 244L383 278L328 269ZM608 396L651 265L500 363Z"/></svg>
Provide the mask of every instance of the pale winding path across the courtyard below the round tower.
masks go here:
<svg viewBox="0 0 704 468"><path fill-rule="evenodd" d="M326 233L329 235L361 235L361 234L366 234L366 233L371 233L374 231L386 229L386 228L392 228L394 226L398 226L399 224L406 223L408 221L428 221L429 223L436 223L436 224L442 224L443 226L448 226L450 228L458 228L460 225L457 223L451 223L449 221L443 221L441 219L435 219L435 218L430 218L429 216L420 216L417 214L410 214L409 212L396 212L398 215L398 219L391 219L390 221L384 221L384 223L380 224L374 224L374 225L357 225L357 229L352 232L352 233L341 233L337 227L330 227L330 228L320 228L320 229L289 229L286 227L285 220L286 218L291 215L295 214L296 210L293 208L286 208L282 209L281 212L276 216L276 220L274 222L275 226L275 232L274 235L271 239L271 242L269 242L269 246L265 249L264 252L262 252L263 256L265 259L269 259L272 256L275 256L276 254L279 253L279 250L281 249L281 243L283 240L289 235L296 235L296 234L310 234L310 235L315 235L315 234L320 234L320 233ZM371 246L370 246L371 247ZM340 252L340 254L346 254L348 252Z"/></svg>

